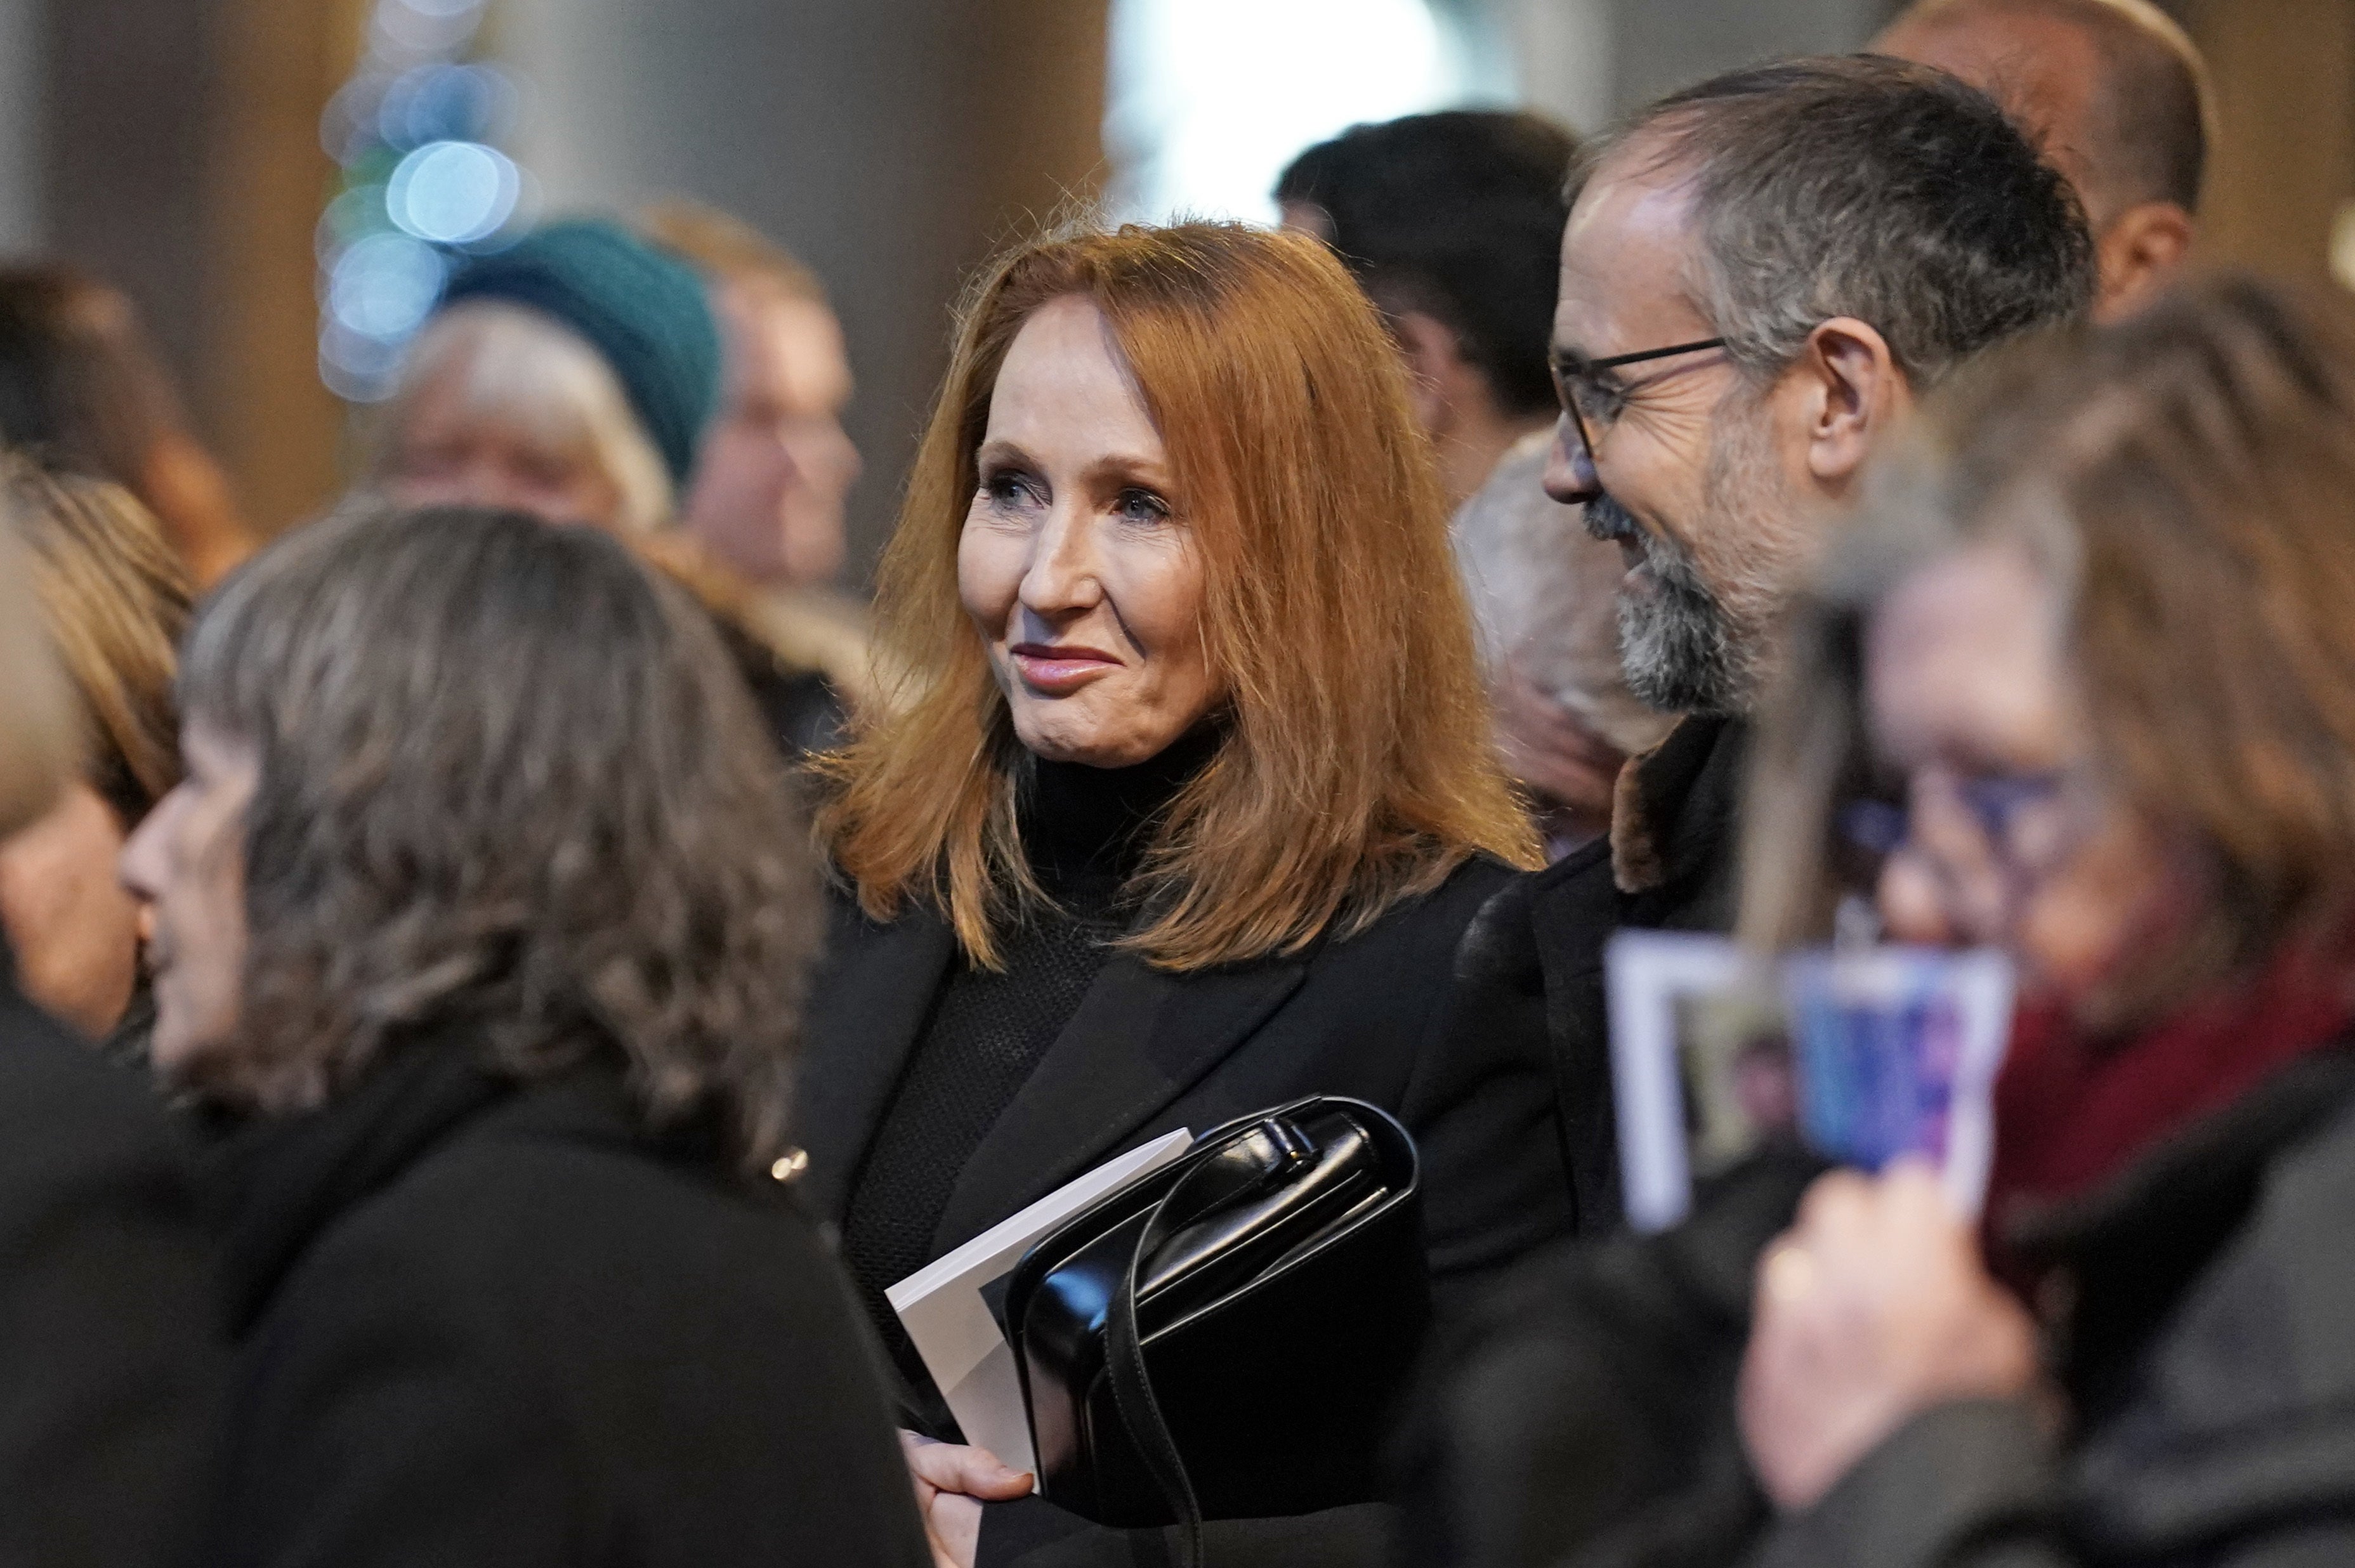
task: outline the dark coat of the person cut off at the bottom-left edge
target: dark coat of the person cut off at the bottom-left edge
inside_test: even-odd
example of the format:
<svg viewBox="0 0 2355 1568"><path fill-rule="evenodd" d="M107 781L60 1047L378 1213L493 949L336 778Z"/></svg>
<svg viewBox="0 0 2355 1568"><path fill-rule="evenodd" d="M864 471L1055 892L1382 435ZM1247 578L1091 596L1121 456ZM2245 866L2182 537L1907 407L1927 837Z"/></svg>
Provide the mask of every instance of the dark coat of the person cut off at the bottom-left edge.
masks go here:
<svg viewBox="0 0 2355 1568"><path fill-rule="evenodd" d="M0 1566L179 1561L219 1401L212 1248L155 1095L0 944Z"/></svg>

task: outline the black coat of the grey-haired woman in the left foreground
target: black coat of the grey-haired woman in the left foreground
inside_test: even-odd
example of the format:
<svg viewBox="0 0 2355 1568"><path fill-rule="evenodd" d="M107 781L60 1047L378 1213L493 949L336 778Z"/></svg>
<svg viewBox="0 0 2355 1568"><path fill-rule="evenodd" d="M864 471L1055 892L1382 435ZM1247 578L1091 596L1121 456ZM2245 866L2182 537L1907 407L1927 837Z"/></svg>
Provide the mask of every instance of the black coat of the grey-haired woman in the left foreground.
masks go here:
<svg viewBox="0 0 2355 1568"><path fill-rule="evenodd" d="M464 1041L219 1154L236 1394L207 1563L928 1568L848 1285L615 1069Z"/></svg>

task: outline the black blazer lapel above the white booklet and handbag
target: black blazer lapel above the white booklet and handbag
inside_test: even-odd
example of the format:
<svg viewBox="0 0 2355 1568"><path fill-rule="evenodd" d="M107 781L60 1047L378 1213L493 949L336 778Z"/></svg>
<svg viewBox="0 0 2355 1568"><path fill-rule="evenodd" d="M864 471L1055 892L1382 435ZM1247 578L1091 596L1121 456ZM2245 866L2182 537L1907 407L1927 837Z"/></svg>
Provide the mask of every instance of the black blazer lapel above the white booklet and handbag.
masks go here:
<svg viewBox="0 0 2355 1568"><path fill-rule="evenodd" d="M1170 975L1114 956L966 1161L933 1231L935 1253L963 1245L1133 1142L1251 1038L1300 989L1307 968L1300 956Z"/></svg>

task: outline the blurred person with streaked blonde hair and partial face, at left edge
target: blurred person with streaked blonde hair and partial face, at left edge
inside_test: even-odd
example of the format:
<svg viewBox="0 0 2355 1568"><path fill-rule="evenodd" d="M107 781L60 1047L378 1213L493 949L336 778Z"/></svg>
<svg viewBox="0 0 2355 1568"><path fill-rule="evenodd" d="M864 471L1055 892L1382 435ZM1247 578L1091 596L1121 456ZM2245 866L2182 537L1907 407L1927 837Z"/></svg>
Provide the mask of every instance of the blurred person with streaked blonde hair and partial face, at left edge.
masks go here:
<svg viewBox="0 0 2355 1568"><path fill-rule="evenodd" d="M179 784L174 647L188 577L125 490L0 464L42 629L73 685L82 765L49 810L0 841L0 925L26 994L111 1057L146 1067L139 904L115 862Z"/></svg>

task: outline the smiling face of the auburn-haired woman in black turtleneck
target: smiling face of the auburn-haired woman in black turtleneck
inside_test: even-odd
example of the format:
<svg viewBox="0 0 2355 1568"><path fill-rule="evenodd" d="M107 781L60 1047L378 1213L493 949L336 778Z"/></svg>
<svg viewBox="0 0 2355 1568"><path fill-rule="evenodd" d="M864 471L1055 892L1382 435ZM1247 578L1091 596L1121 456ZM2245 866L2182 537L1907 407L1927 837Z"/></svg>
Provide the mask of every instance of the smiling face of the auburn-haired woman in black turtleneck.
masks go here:
<svg viewBox="0 0 2355 1568"><path fill-rule="evenodd" d="M956 584L1022 744L1093 768L1156 756L1222 692L1194 530L1088 299L1015 334L975 466Z"/></svg>

